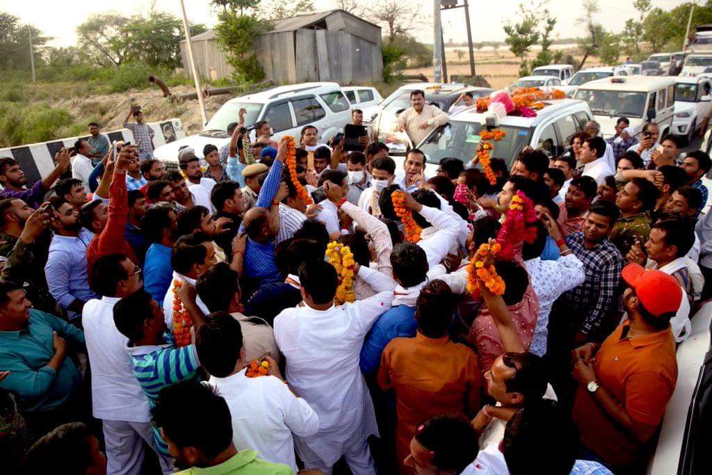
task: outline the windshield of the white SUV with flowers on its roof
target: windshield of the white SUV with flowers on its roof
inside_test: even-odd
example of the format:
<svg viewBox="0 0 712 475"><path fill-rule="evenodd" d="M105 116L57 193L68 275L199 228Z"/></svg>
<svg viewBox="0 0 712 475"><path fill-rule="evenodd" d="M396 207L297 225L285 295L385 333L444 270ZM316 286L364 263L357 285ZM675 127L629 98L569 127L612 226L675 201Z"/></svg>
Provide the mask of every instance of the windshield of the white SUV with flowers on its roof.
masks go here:
<svg viewBox="0 0 712 475"><path fill-rule="evenodd" d="M529 145L531 131L528 127L500 125L504 130L504 138L494 143L492 157L502 158L511 165L515 156ZM460 122L452 120L449 125L439 127L420 145L420 149L429 163L440 163L444 157L459 158L467 163L475 156L475 150L480 142L479 133L482 130L480 122Z"/></svg>

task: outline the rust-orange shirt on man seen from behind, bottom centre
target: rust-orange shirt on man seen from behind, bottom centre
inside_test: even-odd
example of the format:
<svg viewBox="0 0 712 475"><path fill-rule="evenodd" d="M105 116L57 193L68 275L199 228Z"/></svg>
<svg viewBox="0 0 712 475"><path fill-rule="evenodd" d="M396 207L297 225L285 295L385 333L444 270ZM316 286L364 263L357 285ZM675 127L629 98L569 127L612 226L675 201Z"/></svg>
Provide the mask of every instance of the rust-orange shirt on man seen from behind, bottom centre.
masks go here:
<svg viewBox="0 0 712 475"><path fill-rule="evenodd" d="M394 389L398 425L396 453L402 473L415 428L441 414L473 415L480 406L477 356L447 337L394 338L383 350L378 370L382 390Z"/></svg>

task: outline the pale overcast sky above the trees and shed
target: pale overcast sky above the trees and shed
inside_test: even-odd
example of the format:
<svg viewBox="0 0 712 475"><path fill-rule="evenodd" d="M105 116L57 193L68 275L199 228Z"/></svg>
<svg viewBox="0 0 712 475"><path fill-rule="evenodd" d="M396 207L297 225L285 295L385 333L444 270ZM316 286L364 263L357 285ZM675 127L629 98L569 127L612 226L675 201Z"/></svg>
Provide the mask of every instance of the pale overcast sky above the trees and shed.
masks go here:
<svg viewBox="0 0 712 475"><path fill-rule="evenodd" d="M369 3L371 0L364 0ZM419 26L416 35L420 41L431 42L432 29L427 21L432 18L432 5L430 0L403 0L419 5L427 11L426 21ZM132 15L144 13L150 9L150 0L0 0L0 11L6 11L19 16L21 21L33 24L47 36L55 38L52 46L69 46L76 42L75 27L81 24L90 14L105 11L117 11L120 14ZM498 0L496 2L481 2L471 0L473 6L470 10L470 19L473 30L473 41L503 40L502 24L504 21L515 18L518 4L521 0ZM486 4L487 7L481 6ZM662 9L671 9L682 0L652 0L653 6ZM194 23L203 23L213 26L216 21L214 9L210 0L185 0L188 19ZM333 0L314 0L318 10L333 8ZM493 4L501 8L494 9ZM601 13L597 20L606 28L620 31L625 21L636 16L633 0L599 0ZM550 0L550 11L557 16L558 23L554 30L557 38L580 36L580 26L576 19L580 14L576 6L580 0ZM180 14L178 0L156 0L156 7L172 14ZM369 18L366 17L368 20ZM462 9L446 11L443 13L443 28L445 40L452 38L454 41L466 41L464 11Z"/></svg>

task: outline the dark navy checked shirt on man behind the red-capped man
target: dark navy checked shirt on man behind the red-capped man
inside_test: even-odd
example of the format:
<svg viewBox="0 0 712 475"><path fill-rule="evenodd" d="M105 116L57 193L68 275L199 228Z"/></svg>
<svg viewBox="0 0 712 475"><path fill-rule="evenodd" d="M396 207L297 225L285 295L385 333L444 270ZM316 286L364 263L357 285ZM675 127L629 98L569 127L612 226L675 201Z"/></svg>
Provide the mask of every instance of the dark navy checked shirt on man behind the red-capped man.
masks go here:
<svg viewBox="0 0 712 475"><path fill-rule="evenodd" d="M566 236L566 244L583 263L586 280L580 286L562 294L561 298L569 308L575 308L583 315L579 330L595 334L611 312L617 311L622 290L621 271L623 257L620 251L607 238L592 249L583 245L583 232L578 231Z"/></svg>

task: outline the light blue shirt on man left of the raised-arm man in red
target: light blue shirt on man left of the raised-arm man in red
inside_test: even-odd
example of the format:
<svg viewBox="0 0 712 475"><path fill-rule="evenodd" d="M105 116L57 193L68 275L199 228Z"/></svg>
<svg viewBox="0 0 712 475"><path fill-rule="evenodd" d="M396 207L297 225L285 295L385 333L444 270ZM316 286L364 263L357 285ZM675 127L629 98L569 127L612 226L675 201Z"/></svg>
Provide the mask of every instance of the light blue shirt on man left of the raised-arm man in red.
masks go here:
<svg viewBox="0 0 712 475"><path fill-rule="evenodd" d="M94 233L85 228L77 237L58 234L52 237L45 276L50 293L62 308L67 308L76 299L87 302L98 298L89 288L87 278L87 246L93 237ZM79 316L69 312L69 318Z"/></svg>

